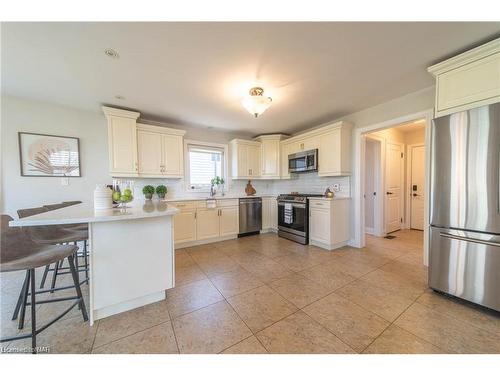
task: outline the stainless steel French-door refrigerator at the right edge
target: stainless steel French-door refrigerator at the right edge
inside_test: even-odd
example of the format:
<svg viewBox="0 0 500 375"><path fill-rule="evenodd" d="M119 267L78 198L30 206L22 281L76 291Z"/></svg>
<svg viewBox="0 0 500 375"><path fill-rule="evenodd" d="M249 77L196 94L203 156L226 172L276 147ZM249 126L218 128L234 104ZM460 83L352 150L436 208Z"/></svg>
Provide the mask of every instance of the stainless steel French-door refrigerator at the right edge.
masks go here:
<svg viewBox="0 0 500 375"><path fill-rule="evenodd" d="M500 311L500 103L431 132L429 286Z"/></svg>

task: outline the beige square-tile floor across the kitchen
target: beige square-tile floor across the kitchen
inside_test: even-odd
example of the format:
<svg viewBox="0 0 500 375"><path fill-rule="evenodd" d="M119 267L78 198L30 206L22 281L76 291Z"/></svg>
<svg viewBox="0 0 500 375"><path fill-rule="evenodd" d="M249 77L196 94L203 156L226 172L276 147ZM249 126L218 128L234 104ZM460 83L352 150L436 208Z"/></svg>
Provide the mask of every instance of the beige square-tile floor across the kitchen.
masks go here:
<svg viewBox="0 0 500 375"><path fill-rule="evenodd" d="M396 236L332 252L275 234L177 250L177 286L165 301L93 327L74 309L39 345L52 353L500 353L500 315L430 291L422 233ZM10 315L22 276L2 275L2 336L17 333ZM39 320L63 308L41 305Z"/></svg>

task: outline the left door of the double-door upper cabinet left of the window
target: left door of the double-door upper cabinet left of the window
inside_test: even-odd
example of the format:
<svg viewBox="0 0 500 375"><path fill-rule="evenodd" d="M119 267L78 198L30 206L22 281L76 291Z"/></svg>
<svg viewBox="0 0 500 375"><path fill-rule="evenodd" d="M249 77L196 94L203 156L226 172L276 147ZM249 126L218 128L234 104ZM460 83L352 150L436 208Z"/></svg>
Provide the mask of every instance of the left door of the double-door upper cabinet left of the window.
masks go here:
<svg viewBox="0 0 500 375"><path fill-rule="evenodd" d="M148 131L137 131L137 152L139 173L144 175L162 174L161 135Z"/></svg>

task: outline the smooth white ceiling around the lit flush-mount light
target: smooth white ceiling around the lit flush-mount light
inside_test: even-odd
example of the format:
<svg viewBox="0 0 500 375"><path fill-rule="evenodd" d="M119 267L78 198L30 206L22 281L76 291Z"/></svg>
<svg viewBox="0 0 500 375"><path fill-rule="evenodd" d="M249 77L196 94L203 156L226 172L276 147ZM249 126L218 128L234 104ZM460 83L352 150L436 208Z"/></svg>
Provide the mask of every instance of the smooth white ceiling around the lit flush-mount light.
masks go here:
<svg viewBox="0 0 500 375"><path fill-rule="evenodd" d="M427 66L499 33L498 22L3 23L2 93L292 133L429 87ZM273 98L258 119L240 104L256 84Z"/></svg>

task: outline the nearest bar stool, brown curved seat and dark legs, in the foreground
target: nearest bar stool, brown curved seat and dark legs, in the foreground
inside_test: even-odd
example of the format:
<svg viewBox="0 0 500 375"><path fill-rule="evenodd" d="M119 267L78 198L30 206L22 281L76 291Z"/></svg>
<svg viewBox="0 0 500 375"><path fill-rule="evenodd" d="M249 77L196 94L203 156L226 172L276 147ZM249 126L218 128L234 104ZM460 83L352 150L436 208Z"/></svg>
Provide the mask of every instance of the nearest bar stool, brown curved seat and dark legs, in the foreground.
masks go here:
<svg viewBox="0 0 500 375"><path fill-rule="evenodd" d="M74 264L74 254L77 247L75 245L42 245L36 243L26 235L25 231L22 231L19 228L10 228L8 223L11 220L13 220L12 217L8 215L0 215L0 272L26 271L26 279L22 288L22 299L18 300L18 306L16 306L16 309L21 309L19 328L22 329L24 326L26 306L31 306L31 333L0 338L0 342L21 340L31 337L32 353L35 354L36 336L61 319L76 305L79 306L82 312L83 320L88 320L87 310ZM76 290L76 296L37 301L37 294L47 293L49 290L36 291L35 269L46 266L47 264L57 263L65 258L68 259L69 268L73 278L73 286ZM56 288L54 290L60 289L62 288ZM28 302L28 296L30 296L30 302ZM62 314L58 315L42 327L37 328L35 308L37 304L55 303L68 300L75 300L75 302Z"/></svg>

